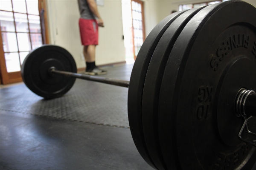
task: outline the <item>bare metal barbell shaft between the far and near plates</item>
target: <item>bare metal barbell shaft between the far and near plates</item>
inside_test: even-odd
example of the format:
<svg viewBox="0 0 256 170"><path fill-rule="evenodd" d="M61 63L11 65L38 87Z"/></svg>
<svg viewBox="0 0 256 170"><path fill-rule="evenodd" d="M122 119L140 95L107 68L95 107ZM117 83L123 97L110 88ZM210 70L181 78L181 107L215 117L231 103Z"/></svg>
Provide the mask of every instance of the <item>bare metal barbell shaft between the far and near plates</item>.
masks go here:
<svg viewBox="0 0 256 170"><path fill-rule="evenodd" d="M79 78L79 79L85 79L85 80L94 81L94 82L102 82L105 84L117 85L117 86L121 86L121 87L125 87L125 88L129 87L129 81L125 81L125 80L90 76L90 75L86 75L86 74L78 74L78 73L72 73L72 72L67 72L67 71L59 71L59 70L55 70L54 68L52 68L50 70L50 73L60 74L60 75L64 75L67 77L75 77L75 78Z"/></svg>

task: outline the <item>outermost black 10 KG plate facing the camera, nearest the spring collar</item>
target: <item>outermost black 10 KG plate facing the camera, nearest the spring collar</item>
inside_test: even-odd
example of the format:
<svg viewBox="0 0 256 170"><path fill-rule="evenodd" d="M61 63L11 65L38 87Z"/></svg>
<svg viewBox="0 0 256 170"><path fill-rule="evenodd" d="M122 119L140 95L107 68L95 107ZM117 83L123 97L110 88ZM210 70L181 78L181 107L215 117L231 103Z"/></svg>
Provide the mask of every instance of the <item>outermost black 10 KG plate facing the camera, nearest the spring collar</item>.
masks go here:
<svg viewBox="0 0 256 170"><path fill-rule="evenodd" d="M241 88L256 90L256 8L239 0L201 9L181 31L167 61L158 134L169 170L248 170L255 147L238 139ZM251 131L256 131L248 122ZM253 140L246 132L245 139ZM172 160L172 161L170 161ZM166 164L168 165L168 164Z"/></svg>

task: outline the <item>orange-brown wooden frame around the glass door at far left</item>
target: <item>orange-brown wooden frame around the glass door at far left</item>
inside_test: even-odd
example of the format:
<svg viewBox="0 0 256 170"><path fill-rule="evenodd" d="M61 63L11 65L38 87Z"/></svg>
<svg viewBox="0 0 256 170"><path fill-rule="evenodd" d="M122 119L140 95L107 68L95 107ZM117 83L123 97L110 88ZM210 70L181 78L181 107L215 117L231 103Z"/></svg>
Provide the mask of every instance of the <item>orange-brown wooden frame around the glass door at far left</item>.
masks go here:
<svg viewBox="0 0 256 170"><path fill-rule="evenodd" d="M45 26L45 39L46 44L49 44L49 32L48 32L48 22L47 22L47 5L46 0L38 0L38 10L44 9L44 26ZM15 22L15 21L14 21ZM42 31L42 30L41 30ZM43 36L42 36L43 38ZM9 84L14 82L22 82L20 71L8 73L6 69L6 61L3 51L3 39L2 31L0 29L0 84Z"/></svg>

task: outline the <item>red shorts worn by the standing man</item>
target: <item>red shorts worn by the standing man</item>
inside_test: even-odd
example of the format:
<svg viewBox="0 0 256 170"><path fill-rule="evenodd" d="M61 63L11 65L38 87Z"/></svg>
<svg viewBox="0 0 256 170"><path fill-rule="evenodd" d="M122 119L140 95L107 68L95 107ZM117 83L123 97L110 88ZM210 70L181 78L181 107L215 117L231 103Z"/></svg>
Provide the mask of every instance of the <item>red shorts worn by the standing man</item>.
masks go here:
<svg viewBox="0 0 256 170"><path fill-rule="evenodd" d="M98 45L98 23L96 20L79 19L82 45Z"/></svg>

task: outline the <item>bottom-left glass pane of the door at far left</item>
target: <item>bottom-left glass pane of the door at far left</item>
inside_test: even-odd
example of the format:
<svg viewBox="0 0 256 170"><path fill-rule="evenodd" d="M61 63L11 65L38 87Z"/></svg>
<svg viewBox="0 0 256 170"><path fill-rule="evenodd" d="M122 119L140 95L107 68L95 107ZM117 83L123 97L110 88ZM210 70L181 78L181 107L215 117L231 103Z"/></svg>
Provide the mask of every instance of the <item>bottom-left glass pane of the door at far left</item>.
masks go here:
<svg viewBox="0 0 256 170"><path fill-rule="evenodd" d="M5 53L7 72L20 71L20 59L18 53Z"/></svg>

